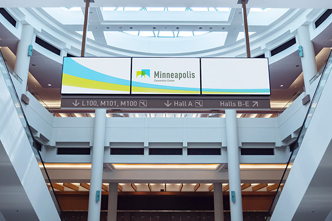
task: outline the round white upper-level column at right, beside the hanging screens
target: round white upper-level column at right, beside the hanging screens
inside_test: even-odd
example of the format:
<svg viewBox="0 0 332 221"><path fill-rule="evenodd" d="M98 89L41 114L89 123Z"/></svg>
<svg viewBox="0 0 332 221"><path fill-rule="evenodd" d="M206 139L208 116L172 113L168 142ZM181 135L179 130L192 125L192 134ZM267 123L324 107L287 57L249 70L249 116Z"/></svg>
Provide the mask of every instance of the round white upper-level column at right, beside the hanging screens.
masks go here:
<svg viewBox="0 0 332 221"><path fill-rule="evenodd" d="M297 29L299 45L303 48L303 57L301 57L304 87L306 94L315 93L310 91L310 79L317 73L314 44L310 39L309 26L303 25Z"/></svg>

